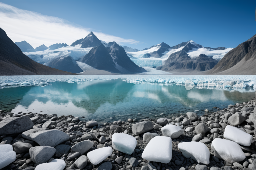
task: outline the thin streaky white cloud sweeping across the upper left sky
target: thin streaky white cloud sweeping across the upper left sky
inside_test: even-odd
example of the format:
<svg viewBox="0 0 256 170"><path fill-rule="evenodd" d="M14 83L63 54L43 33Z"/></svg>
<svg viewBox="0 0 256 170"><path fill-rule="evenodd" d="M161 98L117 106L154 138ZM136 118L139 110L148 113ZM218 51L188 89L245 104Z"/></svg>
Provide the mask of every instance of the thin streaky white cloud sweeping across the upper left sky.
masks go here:
<svg viewBox="0 0 256 170"><path fill-rule="evenodd" d="M1 2L0 27L13 42L25 40L34 48L42 44L47 47L55 43L71 45L91 32L88 28L76 26L65 19L22 10ZM101 32L93 33L106 42L115 41L120 45L139 43L133 39L124 39Z"/></svg>

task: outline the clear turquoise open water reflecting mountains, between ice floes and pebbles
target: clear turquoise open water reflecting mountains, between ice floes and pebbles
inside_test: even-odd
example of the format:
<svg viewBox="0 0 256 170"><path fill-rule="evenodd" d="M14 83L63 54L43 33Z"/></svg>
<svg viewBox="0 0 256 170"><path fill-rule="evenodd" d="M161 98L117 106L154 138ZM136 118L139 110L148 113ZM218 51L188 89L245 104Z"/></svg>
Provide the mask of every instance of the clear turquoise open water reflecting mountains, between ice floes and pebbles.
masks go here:
<svg viewBox="0 0 256 170"><path fill-rule="evenodd" d="M111 122L127 118L152 118L204 109L217 111L229 104L251 100L254 89L186 90L184 85L128 83L122 79L92 80L81 84L63 81L46 86L0 89L0 109L13 112L85 116L85 120Z"/></svg>

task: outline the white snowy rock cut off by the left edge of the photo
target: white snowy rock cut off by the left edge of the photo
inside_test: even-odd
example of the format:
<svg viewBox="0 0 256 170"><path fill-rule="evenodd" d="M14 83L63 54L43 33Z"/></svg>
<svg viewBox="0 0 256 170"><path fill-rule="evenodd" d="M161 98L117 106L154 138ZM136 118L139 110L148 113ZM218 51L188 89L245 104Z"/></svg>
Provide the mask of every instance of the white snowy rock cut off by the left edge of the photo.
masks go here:
<svg viewBox="0 0 256 170"><path fill-rule="evenodd" d="M14 162L16 153L10 144L0 144L0 169Z"/></svg>

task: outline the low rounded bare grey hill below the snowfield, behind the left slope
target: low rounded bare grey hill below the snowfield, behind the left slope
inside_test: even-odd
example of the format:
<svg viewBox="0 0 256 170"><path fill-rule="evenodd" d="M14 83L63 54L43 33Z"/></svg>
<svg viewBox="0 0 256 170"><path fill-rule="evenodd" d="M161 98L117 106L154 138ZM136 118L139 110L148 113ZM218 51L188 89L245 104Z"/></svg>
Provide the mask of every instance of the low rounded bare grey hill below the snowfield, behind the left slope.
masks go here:
<svg viewBox="0 0 256 170"><path fill-rule="evenodd" d="M54 58L50 62L45 63L45 65L71 73L83 72L83 70L77 65L76 61L70 56Z"/></svg>

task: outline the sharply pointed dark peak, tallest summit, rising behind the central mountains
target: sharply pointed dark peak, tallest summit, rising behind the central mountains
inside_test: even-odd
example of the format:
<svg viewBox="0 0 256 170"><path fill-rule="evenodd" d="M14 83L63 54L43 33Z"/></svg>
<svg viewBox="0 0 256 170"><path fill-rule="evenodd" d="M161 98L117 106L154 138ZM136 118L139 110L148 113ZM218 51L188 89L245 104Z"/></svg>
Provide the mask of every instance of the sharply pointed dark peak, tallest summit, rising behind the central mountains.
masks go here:
<svg viewBox="0 0 256 170"><path fill-rule="evenodd" d="M73 42L71 46L73 47L78 44L81 44L81 48L97 47L101 44L101 41L91 32L85 38Z"/></svg>

